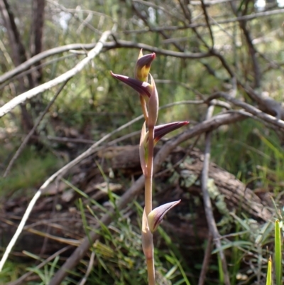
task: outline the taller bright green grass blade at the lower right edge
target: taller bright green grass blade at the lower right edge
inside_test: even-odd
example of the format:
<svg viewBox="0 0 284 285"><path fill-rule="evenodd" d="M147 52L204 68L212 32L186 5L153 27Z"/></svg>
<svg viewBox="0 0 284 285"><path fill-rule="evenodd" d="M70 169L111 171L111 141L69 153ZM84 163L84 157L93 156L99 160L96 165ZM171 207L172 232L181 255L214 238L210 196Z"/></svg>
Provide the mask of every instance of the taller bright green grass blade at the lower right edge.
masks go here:
<svg viewBox="0 0 284 285"><path fill-rule="evenodd" d="M282 250L279 220L275 221L275 278L276 285L282 284Z"/></svg>

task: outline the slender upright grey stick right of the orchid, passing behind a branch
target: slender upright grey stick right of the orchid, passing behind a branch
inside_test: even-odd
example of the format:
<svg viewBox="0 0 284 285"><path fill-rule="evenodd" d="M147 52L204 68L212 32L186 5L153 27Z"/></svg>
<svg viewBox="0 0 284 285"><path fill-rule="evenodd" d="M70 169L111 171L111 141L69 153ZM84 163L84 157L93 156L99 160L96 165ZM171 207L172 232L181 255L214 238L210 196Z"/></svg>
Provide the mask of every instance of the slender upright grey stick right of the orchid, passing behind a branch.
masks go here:
<svg viewBox="0 0 284 285"><path fill-rule="evenodd" d="M210 105L207 110L206 119L211 119L213 111L214 111L214 106ZM211 149L211 131L207 131L205 133L205 151L204 151L204 164L203 164L202 177L201 177L201 189L202 189L204 210L205 210L205 215L206 215L209 231L212 233L212 236L214 237L214 243L217 249L219 250L219 257L221 259L222 269L223 269L223 274L224 274L224 283L226 285L229 285L230 279L229 279L229 272L228 272L227 265L226 265L226 258L224 256L222 244L219 239L220 235L219 235L217 225L214 219L212 203L211 203L208 188L207 188L208 187L207 182L208 182L208 172L209 172L210 149Z"/></svg>

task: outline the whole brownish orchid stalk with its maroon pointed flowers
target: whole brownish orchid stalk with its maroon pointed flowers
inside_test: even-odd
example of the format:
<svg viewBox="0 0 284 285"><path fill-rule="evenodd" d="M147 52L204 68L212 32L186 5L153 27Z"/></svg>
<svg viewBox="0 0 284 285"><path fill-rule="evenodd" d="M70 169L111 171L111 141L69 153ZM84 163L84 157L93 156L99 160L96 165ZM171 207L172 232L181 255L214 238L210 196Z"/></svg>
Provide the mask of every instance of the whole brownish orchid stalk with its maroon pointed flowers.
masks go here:
<svg viewBox="0 0 284 285"><path fill-rule="evenodd" d="M143 55L142 50L138 55L134 77L117 75L111 72L111 75L129 85L138 92L142 112L145 122L141 129L141 138L139 146L140 162L143 175L145 176L145 208L142 217L142 247L146 257L148 284L155 284L155 265L153 256L153 232L157 230L158 225L163 220L164 215L180 203L180 200L160 205L152 209L152 188L153 188L153 156L154 146L160 138L170 131L185 126L189 122L173 122L156 126L158 119L159 98L155 87L155 81L149 73L151 63L155 59L155 53ZM148 82L148 77L151 81Z"/></svg>

